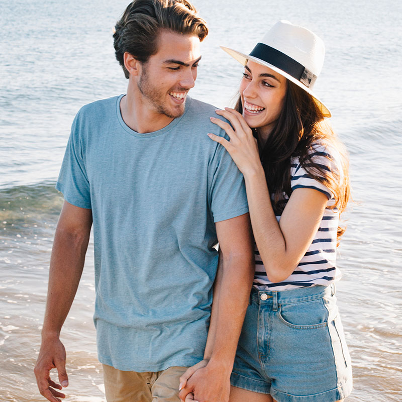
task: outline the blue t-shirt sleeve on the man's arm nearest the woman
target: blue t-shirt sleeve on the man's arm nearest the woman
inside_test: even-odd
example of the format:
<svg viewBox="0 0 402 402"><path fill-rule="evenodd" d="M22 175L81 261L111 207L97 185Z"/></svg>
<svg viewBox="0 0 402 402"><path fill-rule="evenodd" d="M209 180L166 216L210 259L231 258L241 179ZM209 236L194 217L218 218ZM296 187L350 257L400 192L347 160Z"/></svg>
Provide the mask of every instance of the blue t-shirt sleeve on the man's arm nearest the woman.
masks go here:
<svg viewBox="0 0 402 402"><path fill-rule="evenodd" d="M225 135L229 140L229 137ZM243 174L229 152L220 144L214 157L210 205L214 222L225 221L248 213Z"/></svg>

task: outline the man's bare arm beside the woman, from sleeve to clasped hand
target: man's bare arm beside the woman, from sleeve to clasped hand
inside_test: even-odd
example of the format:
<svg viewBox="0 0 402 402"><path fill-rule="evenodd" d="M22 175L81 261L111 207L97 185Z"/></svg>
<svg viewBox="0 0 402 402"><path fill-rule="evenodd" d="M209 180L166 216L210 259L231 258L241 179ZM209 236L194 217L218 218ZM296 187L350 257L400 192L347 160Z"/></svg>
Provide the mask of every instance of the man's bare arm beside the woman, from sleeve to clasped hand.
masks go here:
<svg viewBox="0 0 402 402"><path fill-rule="evenodd" d="M254 275L249 214L218 222L216 228L222 261L205 355L209 362L186 381L179 394L183 400L190 392L198 402L229 400L230 374Z"/></svg>

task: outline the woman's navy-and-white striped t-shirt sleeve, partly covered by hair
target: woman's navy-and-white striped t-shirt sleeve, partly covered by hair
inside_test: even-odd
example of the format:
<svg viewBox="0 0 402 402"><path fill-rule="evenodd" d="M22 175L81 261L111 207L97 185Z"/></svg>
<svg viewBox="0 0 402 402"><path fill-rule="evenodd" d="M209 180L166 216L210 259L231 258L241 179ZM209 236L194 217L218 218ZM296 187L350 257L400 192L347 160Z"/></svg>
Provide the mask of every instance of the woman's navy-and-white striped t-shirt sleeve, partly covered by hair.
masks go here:
<svg viewBox="0 0 402 402"><path fill-rule="evenodd" d="M314 151L311 154L312 161L320 166L324 171L331 172L331 175L339 175L342 169L339 168L339 157L336 157L334 152L330 153L328 148L323 145L314 146ZM314 169L317 176L323 176L318 170ZM313 188L323 192L328 199L333 198L331 190L321 181L314 178L298 161L295 159L291 166L291 181L292 191L296 188Z"/></svg>

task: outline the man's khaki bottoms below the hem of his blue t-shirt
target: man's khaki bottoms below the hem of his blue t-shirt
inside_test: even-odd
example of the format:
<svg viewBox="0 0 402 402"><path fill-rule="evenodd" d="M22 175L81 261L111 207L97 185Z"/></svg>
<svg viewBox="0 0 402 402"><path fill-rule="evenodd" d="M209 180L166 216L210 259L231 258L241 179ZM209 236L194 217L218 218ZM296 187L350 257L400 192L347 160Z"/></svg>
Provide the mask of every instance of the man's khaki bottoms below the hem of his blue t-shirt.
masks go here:
<svg viewBox="0 0 402 402"><path fill-rule="evenodd" d="M108 402L180 402L179 378L187 367L137 373L103 364Z"/></svg>

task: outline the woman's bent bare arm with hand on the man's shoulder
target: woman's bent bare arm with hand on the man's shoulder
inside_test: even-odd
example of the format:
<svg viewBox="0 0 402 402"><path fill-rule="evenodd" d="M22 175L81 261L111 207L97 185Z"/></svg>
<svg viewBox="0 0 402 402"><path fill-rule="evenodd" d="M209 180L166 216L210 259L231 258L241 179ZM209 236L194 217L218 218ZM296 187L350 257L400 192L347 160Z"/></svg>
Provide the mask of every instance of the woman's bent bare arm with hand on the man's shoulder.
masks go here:
<svg viewBox="0 0 402 402"><path fill-rule="evenodd" d="M271 282L286 279L297 266L319 228L327 196L312 188L295 189L277 222L272 209L264 169L261 165L257 141L242 115L233 109L217 113L231 124L212 118L223 128L230 142L223 137L209 134L221 143L232 156L246 182L251 225L258 251Z"/></svg>

